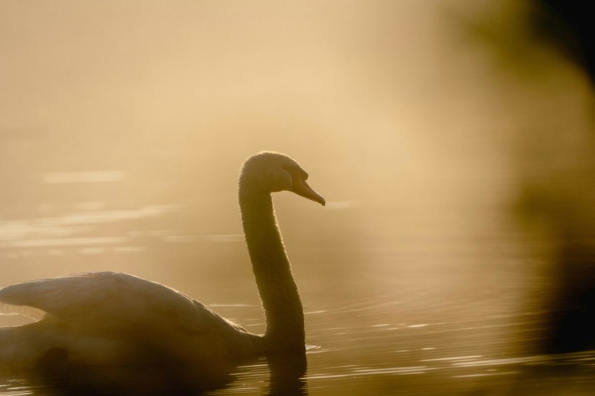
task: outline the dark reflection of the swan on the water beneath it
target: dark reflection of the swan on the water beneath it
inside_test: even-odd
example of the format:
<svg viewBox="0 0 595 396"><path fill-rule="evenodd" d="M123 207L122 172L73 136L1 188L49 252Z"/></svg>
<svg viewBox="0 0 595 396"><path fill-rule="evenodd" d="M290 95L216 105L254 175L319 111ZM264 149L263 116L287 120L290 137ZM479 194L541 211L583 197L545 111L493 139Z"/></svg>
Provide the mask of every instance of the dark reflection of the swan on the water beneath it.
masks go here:
<svg viewBox="0 0 595 396"><path fill-rule="evenodd" d="M239 367L248 372L260 367L258 357L241 360L209 360L193 363L159 362L143 366L101 366L63 369L60 351L52 351L43 365L18 383L20 390L33 395L202 395L232 388L244 381ZM307 396L303 377L307 369L305 353L277 353L265 356L269 380L262 395ZM14 387L14 385L13 385ZM10 390L10 389L8 389Z"/></svg>

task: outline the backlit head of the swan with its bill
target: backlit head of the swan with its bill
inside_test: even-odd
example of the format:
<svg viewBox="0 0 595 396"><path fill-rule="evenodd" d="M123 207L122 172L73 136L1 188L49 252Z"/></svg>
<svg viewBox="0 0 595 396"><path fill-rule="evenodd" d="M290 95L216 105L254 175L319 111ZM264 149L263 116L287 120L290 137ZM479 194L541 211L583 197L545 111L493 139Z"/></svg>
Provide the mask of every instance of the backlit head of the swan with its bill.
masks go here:
<svg viewBox="0 0 595 396"><path fill-rule="evenodd" d="M240 189L251 192L291 191L324 205L324 198L306 183L308 174L293 158L262 151L248 157L241 167Z"/></svg>

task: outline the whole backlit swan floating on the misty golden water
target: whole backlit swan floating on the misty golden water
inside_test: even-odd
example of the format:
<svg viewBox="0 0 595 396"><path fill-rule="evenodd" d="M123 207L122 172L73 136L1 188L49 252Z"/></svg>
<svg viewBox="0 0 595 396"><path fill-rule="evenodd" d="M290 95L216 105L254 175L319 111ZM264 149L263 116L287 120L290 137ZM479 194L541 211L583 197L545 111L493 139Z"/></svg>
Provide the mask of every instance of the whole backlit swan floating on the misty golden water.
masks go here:
<svg viewBox="0 0 595 396"><path fill-rule="evenodd" d="M4 306L43 311L36 322L0 328L0 371L303 353L304 313L271 193L287 190L324 205L307 178L300 164L281 153L252 155L241 167L241 223L265 334L252 334L160 283L116 272L71 274L0 289Z"/></svg>

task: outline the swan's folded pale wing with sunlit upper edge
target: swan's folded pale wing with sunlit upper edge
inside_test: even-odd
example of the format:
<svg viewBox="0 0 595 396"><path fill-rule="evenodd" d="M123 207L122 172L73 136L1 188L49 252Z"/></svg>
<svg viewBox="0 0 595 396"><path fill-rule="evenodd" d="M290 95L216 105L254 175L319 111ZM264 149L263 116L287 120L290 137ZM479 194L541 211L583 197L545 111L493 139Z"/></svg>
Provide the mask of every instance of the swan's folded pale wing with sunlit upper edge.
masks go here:
<svg viewBox="0 0 595 396"><path fill-rule="evenodd" d="M29 281L0 290L0 302L41 309L91 334L168 334L241 329L174 289L128 274L96 272ZM134 335L134 334L131 334Z"/></svg>

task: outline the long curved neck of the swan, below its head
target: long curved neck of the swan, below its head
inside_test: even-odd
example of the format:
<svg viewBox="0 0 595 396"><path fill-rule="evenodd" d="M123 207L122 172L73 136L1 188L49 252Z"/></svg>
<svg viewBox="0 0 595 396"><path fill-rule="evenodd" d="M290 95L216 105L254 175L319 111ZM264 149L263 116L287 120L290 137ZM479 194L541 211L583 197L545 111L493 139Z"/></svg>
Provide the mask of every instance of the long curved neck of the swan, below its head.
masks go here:
<svg viewBox="0 0 595 396"><path fill-rule="evenodd" d="M265 309L265 342L275 349L304 348L304 311L268 193L240 186L239 206L248 253Z"/></svg>

